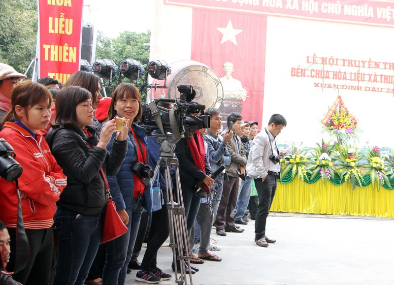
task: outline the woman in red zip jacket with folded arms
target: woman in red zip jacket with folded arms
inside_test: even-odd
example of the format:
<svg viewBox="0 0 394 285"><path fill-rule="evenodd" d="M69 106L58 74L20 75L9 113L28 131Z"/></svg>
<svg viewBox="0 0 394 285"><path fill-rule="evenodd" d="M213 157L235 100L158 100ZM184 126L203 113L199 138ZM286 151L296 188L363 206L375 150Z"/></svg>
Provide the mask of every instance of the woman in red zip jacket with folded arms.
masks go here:
<svg viewBox="0 0 394 285"><path fill-rule="evenodd" d="M45 128L51 119L51 103L52 95L46 87L24 81L12 92L12 109L0 123L0 137L14 148L15 159L23 168L18 184L30 252L26 267L13 275L14 280L22 284L51 284L53 217L56 201L67 183L62 168L38 130ZM11 236L8 263L11 266L15 264L17 213L16 183L0 179L0 220Z"/></svg>

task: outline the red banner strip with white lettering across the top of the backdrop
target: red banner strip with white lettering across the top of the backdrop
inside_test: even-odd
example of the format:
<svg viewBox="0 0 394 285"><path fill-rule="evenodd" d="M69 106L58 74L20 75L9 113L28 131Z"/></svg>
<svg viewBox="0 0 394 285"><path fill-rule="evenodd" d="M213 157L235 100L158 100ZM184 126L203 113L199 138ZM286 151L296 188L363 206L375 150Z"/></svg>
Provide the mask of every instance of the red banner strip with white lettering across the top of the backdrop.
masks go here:
<svg viewBox="0 0 394 285"><path fill-rule="evenodd" d="M164 3L267 16L394 27L392 0L164 0Z"/></svg>

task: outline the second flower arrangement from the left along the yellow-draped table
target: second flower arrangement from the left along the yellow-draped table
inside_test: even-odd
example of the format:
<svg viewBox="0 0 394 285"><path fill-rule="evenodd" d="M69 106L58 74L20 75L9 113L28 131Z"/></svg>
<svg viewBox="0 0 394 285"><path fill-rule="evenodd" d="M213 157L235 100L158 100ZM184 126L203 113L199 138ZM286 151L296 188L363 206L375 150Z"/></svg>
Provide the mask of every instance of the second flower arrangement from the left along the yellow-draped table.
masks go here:
<svg viewBox="0 0 394 285"><path fill-rule="evenodd" d="M327 189L328 180L334 176L334 164L332 162L334 145L325 143L323 139L321 144L316 143L316 145L315 153L312 155L314 161L306 170L311 174L310 180L312 181L316 175L320 175Z"/></svg>

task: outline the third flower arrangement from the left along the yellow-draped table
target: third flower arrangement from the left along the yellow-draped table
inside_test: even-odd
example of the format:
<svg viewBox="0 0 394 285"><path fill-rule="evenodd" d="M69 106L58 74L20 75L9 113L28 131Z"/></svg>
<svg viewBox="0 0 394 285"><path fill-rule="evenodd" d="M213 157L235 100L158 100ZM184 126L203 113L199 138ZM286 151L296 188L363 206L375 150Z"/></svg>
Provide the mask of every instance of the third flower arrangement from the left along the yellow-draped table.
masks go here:
<svg viewBox="0 0 394 285"><path fill-rule="evenodd" d="M349 144L334 144L335 154L334 158L337 159L337 164L335 169L339 174L339 177L348 181L352 185L352 189L354 190L357 182L361 185L361 182L364 182L362 178L360 167L362 167L362 155L361 149L357 149L356 145L353 147Z"/></svg>

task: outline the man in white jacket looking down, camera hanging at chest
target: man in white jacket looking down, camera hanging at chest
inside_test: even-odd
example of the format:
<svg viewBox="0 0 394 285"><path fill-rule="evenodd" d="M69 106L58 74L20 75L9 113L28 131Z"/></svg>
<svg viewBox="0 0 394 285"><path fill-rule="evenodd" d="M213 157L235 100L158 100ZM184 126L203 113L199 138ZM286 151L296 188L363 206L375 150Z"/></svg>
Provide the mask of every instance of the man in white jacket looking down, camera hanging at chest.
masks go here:
<svg viewBox="0 0 394 285"><path fill-rule="evenodd" d="M285 153L279 153L275 137L286 125L287 121L282 115L271 116L268 126L254 138L246 166L246 173L254 178L259 196L255 242L264 248L268 247L269 243L276 242L265 235L265 224L275 196L277 181L280 179L280 158L285 156Z"/></svg>

